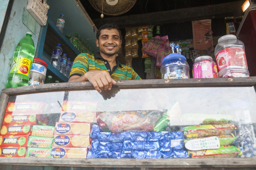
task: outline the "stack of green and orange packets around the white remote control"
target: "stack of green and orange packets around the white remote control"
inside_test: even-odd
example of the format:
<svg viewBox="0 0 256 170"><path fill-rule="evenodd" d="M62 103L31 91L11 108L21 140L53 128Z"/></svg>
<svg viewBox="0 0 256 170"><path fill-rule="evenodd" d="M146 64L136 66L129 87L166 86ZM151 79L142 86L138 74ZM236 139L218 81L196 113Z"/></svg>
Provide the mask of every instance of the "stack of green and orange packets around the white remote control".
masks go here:
<svg viewBox="0 0 256 170"><path fill-rule="evenodd" d="M236 146L231 146L236 137L232 134L232 131L236 129L236 126L232 123L217 124L218 121L211 121L215 124L203 124L195 126L186 126L183 128L184 136L186 137L184 142L191 139L208 138L216 136L219 138L219 149L206 149L198 151L188 150L190 158L233 158L241 154L241 150Z"/></svg>

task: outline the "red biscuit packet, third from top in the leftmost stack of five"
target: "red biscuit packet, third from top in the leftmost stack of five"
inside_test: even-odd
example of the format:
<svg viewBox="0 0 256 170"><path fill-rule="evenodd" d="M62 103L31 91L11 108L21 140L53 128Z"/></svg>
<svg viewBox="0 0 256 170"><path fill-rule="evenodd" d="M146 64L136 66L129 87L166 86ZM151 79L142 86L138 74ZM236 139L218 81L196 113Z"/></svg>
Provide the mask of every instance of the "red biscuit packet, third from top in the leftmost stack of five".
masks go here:
<svg viewBox="0 0 256 170"><path fill-rule="evenodd" d="M1 135L30 135L31 124L19 124L15 126L2 125Z"/></svg>

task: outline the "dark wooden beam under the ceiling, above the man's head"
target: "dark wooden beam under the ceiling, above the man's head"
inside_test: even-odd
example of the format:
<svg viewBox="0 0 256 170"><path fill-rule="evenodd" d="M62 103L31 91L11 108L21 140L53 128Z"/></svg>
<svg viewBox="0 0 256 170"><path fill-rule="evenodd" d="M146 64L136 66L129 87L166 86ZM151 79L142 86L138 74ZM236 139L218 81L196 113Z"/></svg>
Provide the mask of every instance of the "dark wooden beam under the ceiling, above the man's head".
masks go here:
<svg viewBox="0 0 256 170"><path fill-rule="evenodd" d="M235 1L210 6L182 8L120 17L107 17L94 19L93 22L97 26L110 22L117 24L119 28L125 28L136 27L138 25L161 25L193 20L224 18L234 16L233 11L236 9L241 10L243 3L244 1Z"/></svg>

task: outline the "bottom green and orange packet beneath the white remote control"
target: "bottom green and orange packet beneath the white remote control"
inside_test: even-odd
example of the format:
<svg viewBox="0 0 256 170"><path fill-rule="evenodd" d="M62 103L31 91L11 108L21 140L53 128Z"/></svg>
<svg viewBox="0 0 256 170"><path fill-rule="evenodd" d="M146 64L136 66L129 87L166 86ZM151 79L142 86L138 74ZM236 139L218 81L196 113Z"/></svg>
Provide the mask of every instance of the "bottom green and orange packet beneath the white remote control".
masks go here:
<svg viewBox="0 0 256 170"><path fill-rule="evenodd" d="M207 149L199 151L188 151L189 158L233 158L241 154L241 150L236 146L221 146L219 149Z"/></svg>

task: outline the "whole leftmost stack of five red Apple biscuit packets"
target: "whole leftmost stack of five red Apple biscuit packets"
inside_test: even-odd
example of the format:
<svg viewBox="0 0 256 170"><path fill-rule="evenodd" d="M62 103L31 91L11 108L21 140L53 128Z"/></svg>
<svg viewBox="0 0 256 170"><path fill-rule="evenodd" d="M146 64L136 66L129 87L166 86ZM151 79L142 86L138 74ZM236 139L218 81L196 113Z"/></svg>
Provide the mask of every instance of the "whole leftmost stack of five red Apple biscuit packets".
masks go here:
<svg viewBox="0 0 256 170"><path fill-rule="evenodd" d="M42 102L8 102L0 130L0 157L25 157L31 126L36 114L43 113Z"/></svg>

